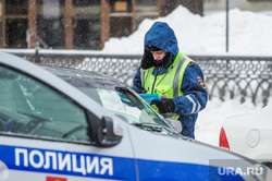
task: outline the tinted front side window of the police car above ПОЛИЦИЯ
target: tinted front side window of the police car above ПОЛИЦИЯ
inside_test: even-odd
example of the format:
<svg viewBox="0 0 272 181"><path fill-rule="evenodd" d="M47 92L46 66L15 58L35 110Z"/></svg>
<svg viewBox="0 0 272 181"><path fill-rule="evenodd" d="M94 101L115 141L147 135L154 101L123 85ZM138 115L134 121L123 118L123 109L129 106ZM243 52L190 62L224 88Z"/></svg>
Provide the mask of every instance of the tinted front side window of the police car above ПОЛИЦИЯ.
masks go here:
<svg viewBox="0 0 272 181"><path fill-rule="evenodd" d="M0 65L0 133L90 142L83 108L51 87Z"/></svg>

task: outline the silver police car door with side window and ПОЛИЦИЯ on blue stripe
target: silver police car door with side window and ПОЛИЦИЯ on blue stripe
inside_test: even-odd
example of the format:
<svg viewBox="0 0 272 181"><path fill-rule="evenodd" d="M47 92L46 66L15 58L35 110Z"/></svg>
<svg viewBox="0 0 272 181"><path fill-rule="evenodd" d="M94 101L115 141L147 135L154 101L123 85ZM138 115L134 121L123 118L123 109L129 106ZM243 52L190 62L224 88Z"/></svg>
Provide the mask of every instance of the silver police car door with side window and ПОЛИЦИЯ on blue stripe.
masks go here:
<svg viewBox="0 0 272 181"><path fill-rule="evenodd" d="M20 61L13 68L0 60L0 180L136 180L127 124ZM120 136L108 134L113 126Z"/></svg>

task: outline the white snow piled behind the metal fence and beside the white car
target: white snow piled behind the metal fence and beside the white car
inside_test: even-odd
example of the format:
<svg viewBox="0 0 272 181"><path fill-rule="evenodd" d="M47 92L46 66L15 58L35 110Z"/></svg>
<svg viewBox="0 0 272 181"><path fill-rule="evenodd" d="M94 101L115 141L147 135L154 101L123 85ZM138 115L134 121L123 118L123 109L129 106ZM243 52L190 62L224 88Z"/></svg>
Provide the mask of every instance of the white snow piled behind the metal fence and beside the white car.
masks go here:
<svg viewBox="0 0 272 181"><path fill-rule="evenodd" d="M144 36L153 22L166 22L174 29L180 50L186 55L225 55L225 12L199 16L180 5L171 14L157 20L146 19L128 37L110 38L101 52L143 53ZM272 16L232 9L230 11L228 55L272 56ZM249 113L260 109L250 100L239 104L237 99L222 102L212 99L199 113L196 140L215 145L225 118Z"/></svg>

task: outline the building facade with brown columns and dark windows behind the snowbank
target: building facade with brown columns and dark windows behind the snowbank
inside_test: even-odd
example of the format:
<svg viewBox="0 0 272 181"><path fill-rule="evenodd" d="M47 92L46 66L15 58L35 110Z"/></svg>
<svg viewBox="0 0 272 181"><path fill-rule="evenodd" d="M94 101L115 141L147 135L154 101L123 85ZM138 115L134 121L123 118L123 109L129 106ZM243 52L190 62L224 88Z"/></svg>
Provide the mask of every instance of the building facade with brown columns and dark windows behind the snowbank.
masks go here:
<svg viewBox="0 0 272 181"><path fill-rule="evenodd" d="M202 14L202 0L0 0L0 48L100 50L178 4Z"/></svg>

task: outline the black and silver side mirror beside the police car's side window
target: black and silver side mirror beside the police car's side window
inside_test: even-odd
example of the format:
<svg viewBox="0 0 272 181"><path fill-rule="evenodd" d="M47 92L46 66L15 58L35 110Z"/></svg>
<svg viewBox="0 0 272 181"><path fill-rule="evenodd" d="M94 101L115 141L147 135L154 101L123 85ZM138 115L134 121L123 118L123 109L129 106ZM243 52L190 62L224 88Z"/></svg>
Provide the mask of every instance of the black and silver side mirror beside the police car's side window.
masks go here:
<svg viewBox="0 0 272 181"><path fill-rule="evenodd" d="M118 134L116 134L118 133ZM110 147L119 144L122 140L122 131L114 130L113 121L109 117L103 117L98 125L96 143L100 147Z"/></svg>

